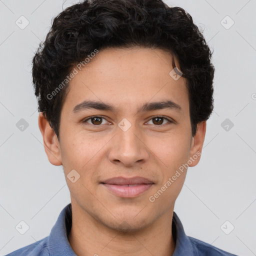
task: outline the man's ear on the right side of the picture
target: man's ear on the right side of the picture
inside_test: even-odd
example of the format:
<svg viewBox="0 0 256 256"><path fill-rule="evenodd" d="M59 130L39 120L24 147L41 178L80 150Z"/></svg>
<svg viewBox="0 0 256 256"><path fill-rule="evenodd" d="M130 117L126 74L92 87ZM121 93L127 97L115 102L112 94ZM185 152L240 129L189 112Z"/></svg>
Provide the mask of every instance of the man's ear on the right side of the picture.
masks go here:
<svg viewBox="0 0 256 256"><path fill-rule="evenodd" d="M196 133L191 140L189 162L192 162L192 163L189 164L189 166L195 166L200 160L205 132L206 132L206 121L201 121L197 124Z"/></svg>

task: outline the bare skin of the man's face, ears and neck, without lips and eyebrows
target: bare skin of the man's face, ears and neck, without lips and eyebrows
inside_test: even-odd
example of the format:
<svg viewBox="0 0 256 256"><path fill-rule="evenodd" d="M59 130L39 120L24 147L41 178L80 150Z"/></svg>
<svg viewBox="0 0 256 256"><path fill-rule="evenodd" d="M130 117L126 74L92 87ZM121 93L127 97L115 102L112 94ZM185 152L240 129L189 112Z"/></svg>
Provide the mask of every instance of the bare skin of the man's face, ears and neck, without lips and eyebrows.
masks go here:
<svg viewBox="0 0 256 256"><path fill-rule="evenodd" d="M161 49L99 51L70 81L61 110L59 140L39 114L45 152L52 164L63 165L70 190L72 227L68 240L77 255L169 256L174 252L171 219L186 169L154 202L149 196L179 166L201 152L206 122L197 125L192 137L186 80L169 75L171 59L172 55ZM116 112L85 109L73 114L74 106L85 99L110 103ZM168 99L179 104L181 111L137 112L145 102ZM93 115L103 118L84 122ZM153 118L161 115L173 123ZM118 127L123 118L131 124L126 131ZM72 169L80 174L74 183L67 178ZM123 198L99 184L115 176L142 176L154 184L136 197Z"/></svg>

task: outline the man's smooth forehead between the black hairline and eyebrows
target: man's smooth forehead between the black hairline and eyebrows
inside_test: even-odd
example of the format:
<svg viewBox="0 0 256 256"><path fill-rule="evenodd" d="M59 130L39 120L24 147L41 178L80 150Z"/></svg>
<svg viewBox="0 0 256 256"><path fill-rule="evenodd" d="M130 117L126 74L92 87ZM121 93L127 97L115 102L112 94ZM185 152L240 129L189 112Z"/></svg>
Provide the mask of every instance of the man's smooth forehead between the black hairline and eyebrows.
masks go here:
<svg viewBox="0 0 256 256"><path fill-rule="evenodd" d="M64 105L75 107L84 100L102 101L138 109L139 102L172 100L188 106L185 79L174 80L171 53L152 48L107 48L91 57L69 82ZM177 61L175 61L177 65Z"/></svg>

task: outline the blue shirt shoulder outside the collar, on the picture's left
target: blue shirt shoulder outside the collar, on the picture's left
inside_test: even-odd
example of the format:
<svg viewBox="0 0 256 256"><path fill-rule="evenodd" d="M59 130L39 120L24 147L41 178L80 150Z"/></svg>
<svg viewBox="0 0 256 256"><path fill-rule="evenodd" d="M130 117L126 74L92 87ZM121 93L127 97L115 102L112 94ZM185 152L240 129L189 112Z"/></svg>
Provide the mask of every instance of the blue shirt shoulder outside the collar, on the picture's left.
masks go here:
<svg viewBox="0 0 256 256"><path fill-rule="evenodd" d="M49 256L48 236L41 240L14 250L5 256Z"/></svg>

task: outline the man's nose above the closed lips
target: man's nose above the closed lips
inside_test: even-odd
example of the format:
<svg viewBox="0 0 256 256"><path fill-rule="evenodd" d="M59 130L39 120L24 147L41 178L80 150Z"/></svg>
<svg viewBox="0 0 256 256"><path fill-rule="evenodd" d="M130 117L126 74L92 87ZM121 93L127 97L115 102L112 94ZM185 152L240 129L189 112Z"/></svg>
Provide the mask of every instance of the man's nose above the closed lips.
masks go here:
<svg viewBox="0 0 256 256"><path fill-rule="evenodd" d="M111 140L108 159L112 163L126 167L136 166L149 158L149 149L146 141L135 124L124 131L117 128L115 136Z"/></svg>

